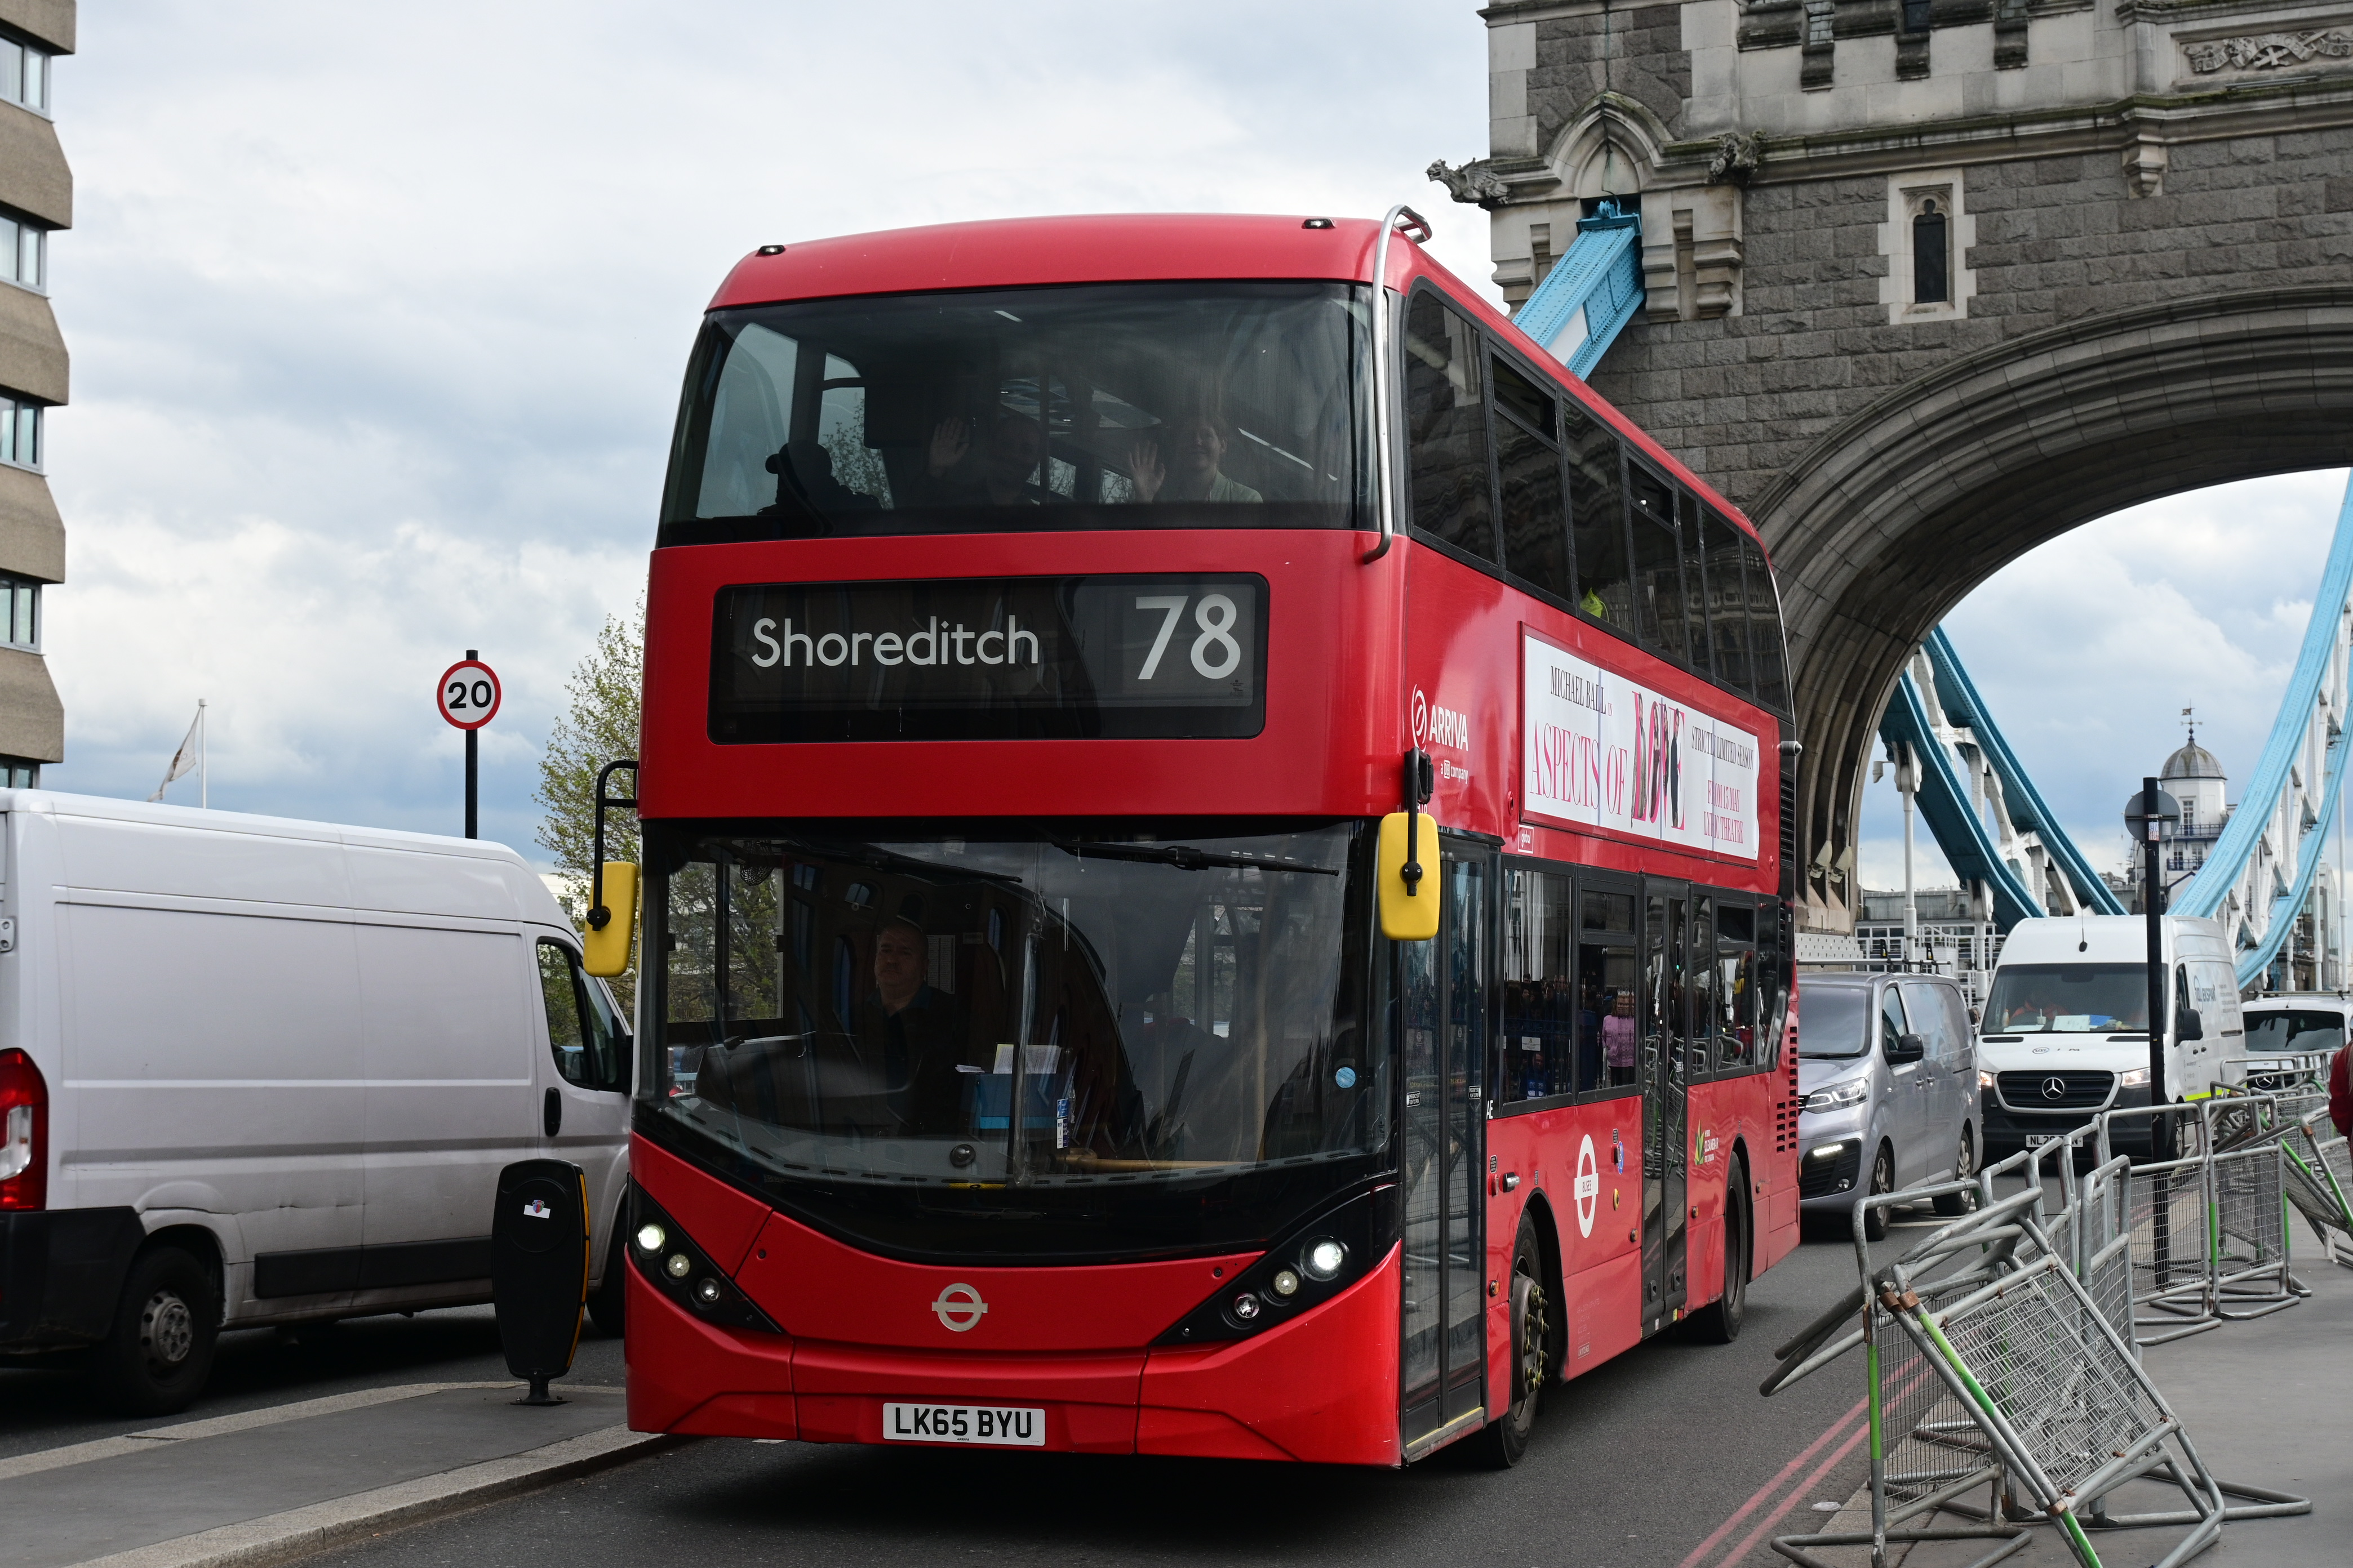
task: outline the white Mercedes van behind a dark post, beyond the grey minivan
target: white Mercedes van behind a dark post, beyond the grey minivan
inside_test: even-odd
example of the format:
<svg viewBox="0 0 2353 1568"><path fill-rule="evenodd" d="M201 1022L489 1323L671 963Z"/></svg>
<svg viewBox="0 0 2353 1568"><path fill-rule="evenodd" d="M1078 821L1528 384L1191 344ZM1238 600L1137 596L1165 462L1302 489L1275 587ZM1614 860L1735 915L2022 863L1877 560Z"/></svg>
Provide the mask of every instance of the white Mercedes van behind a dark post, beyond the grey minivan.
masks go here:
<svg viewBox="0 0 2353 1568"><path fill-rule="evenodd" d="M2224 1081L2245 1025L2231 945L2212 919L2160 922L2172 973L2165 1098L2191 1100ZM2139 914L2021 919L2002 940L1979 1020L1986 1157L2082 1126L2104 1110L2148 1105L2148 922ZM2148 1135L2118 1131L2120 1152Z"/></svg>

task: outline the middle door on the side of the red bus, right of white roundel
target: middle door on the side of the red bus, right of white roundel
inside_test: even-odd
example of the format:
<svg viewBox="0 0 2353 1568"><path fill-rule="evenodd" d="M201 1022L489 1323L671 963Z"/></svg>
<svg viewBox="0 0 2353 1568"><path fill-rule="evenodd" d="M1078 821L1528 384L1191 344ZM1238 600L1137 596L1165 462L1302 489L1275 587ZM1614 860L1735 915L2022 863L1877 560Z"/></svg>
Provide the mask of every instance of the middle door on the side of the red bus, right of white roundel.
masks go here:
<svg viewBox="0 0 2353 1568"><path fill-rule="evenodd" d="M1682 882L1642 884L1642 1333L1673 1319L1685 1300L1689 905Z"/></svg>

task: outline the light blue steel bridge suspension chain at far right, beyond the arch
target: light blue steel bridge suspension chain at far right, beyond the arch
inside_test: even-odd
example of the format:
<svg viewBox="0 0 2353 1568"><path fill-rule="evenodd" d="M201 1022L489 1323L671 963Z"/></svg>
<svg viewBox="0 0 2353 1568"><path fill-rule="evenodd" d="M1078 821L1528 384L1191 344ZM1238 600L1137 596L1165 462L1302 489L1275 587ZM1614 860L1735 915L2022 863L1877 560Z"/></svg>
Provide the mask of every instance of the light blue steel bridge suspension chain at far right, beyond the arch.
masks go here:
<svg viewBox="0 0 2353 1568"><path fill-rule="evenodd" d="M2337 797L2344 788L2346 741L2341 724L2344 703L2344 642L2346 599L2353 595L2353 484L2346 487L2344 505L2337 510L2337 538L2329 543L2327 564L2320 569L2320 590L2313 595L2313 618L2304 628L2304 646L2297 668L2287 677L2287 696L2280 698L2280 717L2271 724L2264 755L2254 764L2247 795L2231 811L2214 851L2198 875L2174 898L2177 914L2209 914L2231 926L2228 936L2240 950L2238 983L2254 985L2280 957L2280 945L2294 929L2294 914L2311 896L2313 877L2320 870L2320 851L2327 842L2327 825L2337 816ZM2337 715L2322 715L2322 701L2332 698ZM2320 733L2315 733L2320 724ZM2299 759L2311 766L2313 748L2320 745L2322 790L2320 806L2313 809L2311 780L2299 778ZM2297 797L2304 806L2297 806ZM2280 820L2285 816L2292 820ZM2285 827L2275 832L2275 827ZM2294 837L2297 875L2280 886L2280 872L2289 860L2285 839ZM2268 875L2266 875L2268 870ZM2235 898L2233 898L2235 893Z"/></svg>

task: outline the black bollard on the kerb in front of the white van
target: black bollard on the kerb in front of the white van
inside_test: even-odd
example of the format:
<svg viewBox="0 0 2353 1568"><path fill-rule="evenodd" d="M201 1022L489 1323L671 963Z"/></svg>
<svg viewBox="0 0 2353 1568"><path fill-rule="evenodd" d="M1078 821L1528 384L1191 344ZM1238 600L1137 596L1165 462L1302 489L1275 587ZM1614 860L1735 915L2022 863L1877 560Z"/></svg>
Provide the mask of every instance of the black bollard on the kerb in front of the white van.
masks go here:
<svg viewBox="0 0 2353 1568"><path fill-rule="evenodd" d="M515 1403L565 1403L548 1380L572 1371L588 1300L588 1178L579 1166L520 1159L499 1171L489 1293L506 1371L532 1385Z"/></svg>

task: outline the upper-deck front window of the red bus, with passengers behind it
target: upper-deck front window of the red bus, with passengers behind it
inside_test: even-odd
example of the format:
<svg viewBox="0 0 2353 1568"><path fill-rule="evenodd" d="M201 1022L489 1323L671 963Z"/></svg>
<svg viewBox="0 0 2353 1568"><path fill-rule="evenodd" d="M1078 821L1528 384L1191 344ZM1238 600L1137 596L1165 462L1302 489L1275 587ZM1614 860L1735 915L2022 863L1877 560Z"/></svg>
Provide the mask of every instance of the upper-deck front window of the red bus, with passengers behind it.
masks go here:
<svg viewBox="0 0 2353 1568"><path fill-rule="evenodd" d="M1367 527L1367 341L1337 282L718 310L659 543Z"/></svg>

